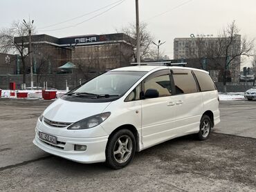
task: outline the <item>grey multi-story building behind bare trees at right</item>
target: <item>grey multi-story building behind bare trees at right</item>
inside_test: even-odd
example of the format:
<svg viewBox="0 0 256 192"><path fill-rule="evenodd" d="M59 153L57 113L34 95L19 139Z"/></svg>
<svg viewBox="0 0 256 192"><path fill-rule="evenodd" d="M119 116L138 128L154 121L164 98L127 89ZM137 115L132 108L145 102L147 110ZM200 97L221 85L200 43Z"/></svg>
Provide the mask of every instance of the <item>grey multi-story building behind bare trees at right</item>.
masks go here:
<svg viewBox="0 0 256 192"><path fill-rule="evenodd" d="M188 66L214 70L218 81L223 81L223 70L226 65L224 45L228 37L190 37L174 39L174 59L186 60ZM221 50L222 49L222 50ZM228 55L236 55L241 49L241 36L236 35L228 49ZM228 57L230 59L230 57ZM228 81L239 81L241 57L236 57L228 66ZM221 79L222 78L222 79ZM216 79L216 77L215 77Z"/></svg>

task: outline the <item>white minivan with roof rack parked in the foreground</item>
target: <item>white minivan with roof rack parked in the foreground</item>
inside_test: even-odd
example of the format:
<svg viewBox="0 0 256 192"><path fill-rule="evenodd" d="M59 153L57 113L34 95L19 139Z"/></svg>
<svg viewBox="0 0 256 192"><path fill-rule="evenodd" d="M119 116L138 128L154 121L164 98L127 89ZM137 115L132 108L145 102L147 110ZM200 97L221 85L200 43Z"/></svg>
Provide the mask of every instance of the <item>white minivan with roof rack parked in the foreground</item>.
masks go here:
<svg viewBox="0 0 256 192"><path fill-rule="evenodd" d="M110 70L71 90L39 117L34 144L81 163L120 169L136 151L174 137L209 137L220 122L208 73L179 66Z"/></svg>

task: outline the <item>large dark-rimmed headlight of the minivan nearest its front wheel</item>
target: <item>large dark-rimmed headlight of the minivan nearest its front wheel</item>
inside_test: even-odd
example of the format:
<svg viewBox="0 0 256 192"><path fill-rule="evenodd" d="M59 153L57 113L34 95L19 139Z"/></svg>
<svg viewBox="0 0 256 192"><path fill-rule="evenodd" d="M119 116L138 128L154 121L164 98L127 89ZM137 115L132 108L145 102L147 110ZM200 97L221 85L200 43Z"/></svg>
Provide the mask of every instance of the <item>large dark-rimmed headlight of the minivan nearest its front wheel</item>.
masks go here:
<svg viewBox="0 0 256 192"><path fill-rule="evenodd" d="M86 128L93 128L98 126L104 120L106 120L111 113L100 113L98 115L93 115L91 117L87 117L85 119L80 120L79 122L75 122L71 126L68 126L68 129L76 130L76 129L86 129Z"/></svg>

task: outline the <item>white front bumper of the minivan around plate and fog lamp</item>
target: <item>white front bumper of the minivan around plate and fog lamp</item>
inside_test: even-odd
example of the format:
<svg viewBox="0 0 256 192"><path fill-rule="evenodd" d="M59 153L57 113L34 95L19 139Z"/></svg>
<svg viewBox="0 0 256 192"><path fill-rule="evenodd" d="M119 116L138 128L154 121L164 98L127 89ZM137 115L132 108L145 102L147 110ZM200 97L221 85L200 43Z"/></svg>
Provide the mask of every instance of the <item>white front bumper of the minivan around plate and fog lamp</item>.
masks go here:
<svg viewBox="0 0 256 192"><path fill-rule="evenodd" d="M105 162L105 148L108 136L93 138L57 137L57 144L39 139L39 130L35 128L33 143L47 153L80 163ZM43 131L44 132L44 131ZM53 135L49 133L50 135ZM86 151L75 151L75 144L86 145Z"/></svg>

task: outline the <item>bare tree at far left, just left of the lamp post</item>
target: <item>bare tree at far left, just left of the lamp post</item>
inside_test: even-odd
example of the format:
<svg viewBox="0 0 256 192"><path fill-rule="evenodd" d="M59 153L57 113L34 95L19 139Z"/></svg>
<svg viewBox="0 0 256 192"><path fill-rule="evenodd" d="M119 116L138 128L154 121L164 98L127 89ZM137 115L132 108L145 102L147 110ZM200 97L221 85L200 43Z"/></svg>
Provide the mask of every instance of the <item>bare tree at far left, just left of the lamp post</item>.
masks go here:
<svg viewBox="0 0 256 192"><path fill-rule="evenodd" d="M32 28L32 32L35 32L35 28ZM13 21L10 28L0 30L0 51L18 54L21 57L24 84L26 84L26 57L29 54L28 48L25 46L25 43L28 42L27 36L28 28L20 21ZM16 42L15 37L20 37L20 41Z"/></svg>

